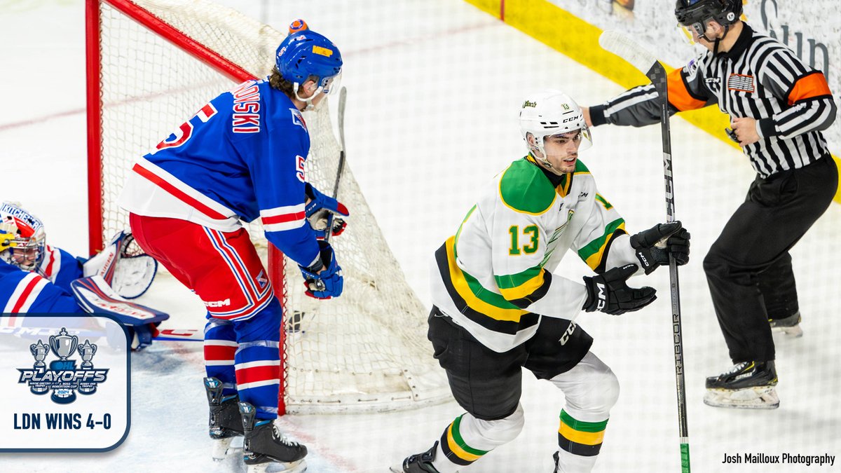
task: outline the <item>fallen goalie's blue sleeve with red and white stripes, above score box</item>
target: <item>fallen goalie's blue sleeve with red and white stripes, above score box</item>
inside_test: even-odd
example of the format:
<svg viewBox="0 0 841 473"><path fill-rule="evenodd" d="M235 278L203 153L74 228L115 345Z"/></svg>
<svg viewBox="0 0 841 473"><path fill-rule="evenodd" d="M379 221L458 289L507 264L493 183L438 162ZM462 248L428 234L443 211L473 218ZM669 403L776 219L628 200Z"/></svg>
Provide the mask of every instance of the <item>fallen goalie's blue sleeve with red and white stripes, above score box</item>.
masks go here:
<svg viewBox="0 0 841 473"><path fill-rule="evenodd" d="M76 299L50 279L5 261L0 261L0 306L4 313L83 312Z"/></svg>

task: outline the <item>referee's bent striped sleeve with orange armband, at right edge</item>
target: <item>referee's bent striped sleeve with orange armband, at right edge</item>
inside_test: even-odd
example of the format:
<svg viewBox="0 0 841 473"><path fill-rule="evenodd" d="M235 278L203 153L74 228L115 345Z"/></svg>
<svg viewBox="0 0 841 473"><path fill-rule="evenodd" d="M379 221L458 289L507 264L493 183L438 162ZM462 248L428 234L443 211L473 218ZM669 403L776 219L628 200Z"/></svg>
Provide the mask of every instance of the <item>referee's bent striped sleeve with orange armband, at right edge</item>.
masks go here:
<svg viewBox="0 0 841 473"><path fill-rule="evenodd" d="M759 67L759 81L788 107L759 120L762 137L793 138L808 131L822 131L835 121L838 106L827 79L800 61L791 50L780 48Z"/></svg>

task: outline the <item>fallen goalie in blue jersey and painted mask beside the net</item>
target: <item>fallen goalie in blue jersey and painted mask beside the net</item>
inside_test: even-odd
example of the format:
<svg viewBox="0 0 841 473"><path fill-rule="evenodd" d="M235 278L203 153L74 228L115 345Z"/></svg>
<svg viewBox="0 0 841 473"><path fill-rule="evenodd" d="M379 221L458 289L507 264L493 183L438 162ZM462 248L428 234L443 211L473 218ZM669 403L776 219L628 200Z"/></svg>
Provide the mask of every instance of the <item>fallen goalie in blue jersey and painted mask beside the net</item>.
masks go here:
<svg viewBox="0 0 841 473"><path fill-rule="evenodd" d="M114 316L123 322L130 347L148 347L157 325L169 316L126 299L149 288L157 263L130 256L131 235L119 232L90 259L73 258L46 244L44 224L19 204L0 205L0 305L3 313L85 313ZM119 310L115 310L118 306ZM16 323L26 323L21 317Z"/></svg>

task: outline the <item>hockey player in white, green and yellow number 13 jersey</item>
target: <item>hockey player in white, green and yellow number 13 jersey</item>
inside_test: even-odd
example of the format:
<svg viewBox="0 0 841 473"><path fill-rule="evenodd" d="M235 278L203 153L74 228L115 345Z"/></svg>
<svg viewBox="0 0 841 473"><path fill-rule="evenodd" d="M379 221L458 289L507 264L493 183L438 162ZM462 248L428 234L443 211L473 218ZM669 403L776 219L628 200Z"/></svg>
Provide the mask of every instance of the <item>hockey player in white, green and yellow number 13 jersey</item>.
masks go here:
<svg viewBox="0 0 841 473"><path fill-rule="evenodd" d="M572 321L582 310L619 315L648 306L655 290L626 280L668 265L669 253L678 264L689 260L690 235L680 222L628 236L578 159L591 145L590 130L566 94L527 98L520 125L528 155L482 189L434 258L428 337L467 412L395 472L452 473L516 438L524 425L523 367L566 398L555 471L590 471L619 383ZM567 250L595 272L584 284L553 274Z"/></svg>

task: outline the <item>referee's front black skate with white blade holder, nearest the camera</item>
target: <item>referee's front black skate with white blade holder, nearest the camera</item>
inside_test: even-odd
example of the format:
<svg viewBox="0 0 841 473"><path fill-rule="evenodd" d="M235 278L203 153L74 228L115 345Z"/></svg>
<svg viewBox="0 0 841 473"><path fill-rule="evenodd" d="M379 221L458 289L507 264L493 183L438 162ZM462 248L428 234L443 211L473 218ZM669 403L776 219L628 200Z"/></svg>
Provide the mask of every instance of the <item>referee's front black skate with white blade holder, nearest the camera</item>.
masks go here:
<svg viewBox="0 0 841 473"><path fill-rule="evenodd" d="M746 361L733 369L706 379L704 404L740 409L776 409L780 398L775 390L777 372L773 361Z"/></svg>

